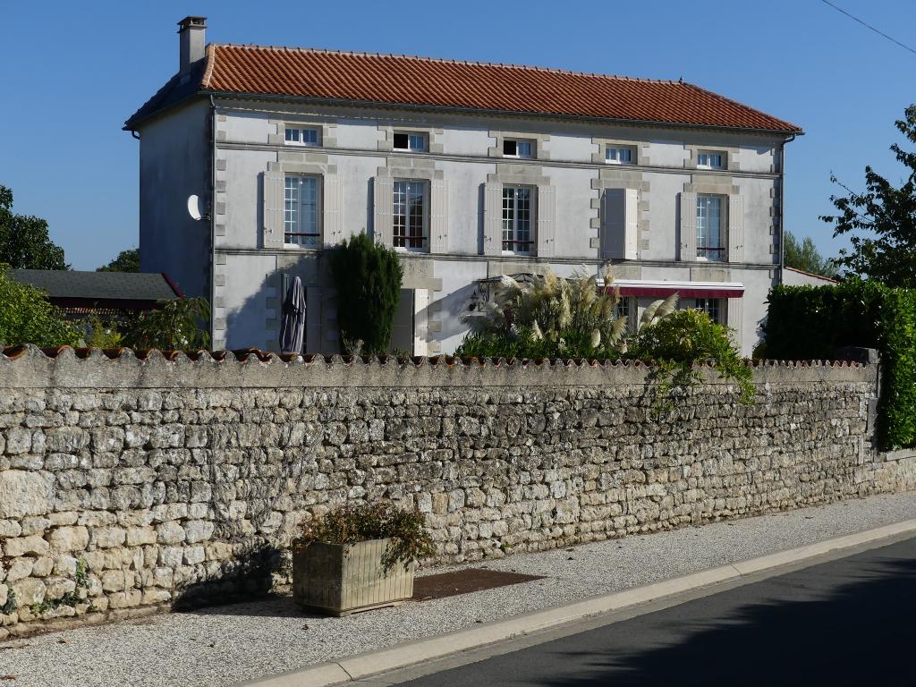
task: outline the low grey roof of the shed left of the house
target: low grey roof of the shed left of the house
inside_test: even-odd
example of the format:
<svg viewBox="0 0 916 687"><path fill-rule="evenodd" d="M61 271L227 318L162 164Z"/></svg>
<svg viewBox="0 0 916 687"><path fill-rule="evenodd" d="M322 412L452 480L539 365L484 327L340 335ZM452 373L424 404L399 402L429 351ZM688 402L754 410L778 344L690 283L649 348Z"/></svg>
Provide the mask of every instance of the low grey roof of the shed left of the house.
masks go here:
<svg viewBox="0 0 916 687"><path fill-rule="evenodd" d="M9 276L48 292L51 298L98 300L174 300L180 297L159 272L78 272L11 269Z"/></svg>

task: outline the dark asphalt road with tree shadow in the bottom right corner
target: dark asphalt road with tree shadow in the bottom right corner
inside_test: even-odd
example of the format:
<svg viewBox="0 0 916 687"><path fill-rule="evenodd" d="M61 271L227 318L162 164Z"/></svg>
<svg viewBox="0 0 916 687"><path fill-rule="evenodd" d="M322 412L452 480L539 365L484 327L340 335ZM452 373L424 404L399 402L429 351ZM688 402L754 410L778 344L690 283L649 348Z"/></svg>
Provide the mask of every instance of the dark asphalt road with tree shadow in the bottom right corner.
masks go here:
<svg viewBox="0 0 916 687"><path fill-rule="evenodd" d="M410 682L916 685L916 539Z"/></svg>

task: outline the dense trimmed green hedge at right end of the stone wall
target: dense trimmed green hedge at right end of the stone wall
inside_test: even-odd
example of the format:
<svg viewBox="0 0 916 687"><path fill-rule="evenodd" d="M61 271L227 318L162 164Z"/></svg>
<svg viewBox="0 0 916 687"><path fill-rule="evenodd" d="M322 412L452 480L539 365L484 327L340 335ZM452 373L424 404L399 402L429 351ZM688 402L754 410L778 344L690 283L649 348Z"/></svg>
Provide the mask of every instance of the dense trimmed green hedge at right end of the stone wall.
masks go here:
<svg viewBox="0 0 916 687"><path fill-rule="evenodd" d="M828 360L841 346L881 352L878 444L916 446L916 291L853 279L837 286L772 289L765 354Z"/></svg>

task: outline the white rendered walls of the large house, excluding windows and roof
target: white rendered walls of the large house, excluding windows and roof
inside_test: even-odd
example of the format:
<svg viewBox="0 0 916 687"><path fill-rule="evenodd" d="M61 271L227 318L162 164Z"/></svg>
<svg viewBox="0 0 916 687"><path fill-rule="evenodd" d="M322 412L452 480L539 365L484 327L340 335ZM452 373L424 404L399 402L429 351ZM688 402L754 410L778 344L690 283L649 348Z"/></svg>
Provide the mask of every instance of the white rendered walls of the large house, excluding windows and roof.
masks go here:
<svg viewBox="0 0 916 687"><path fill-rule="evenodd" d="M390 244L390 225L379 223L390 223L384 193L400 179L420 180L429 193L424 245L403 252L404 288L417 292L415 354L448 354L461 343L461 318L479 280L546 267L600 273L606 265L618 278L742 284L743 297L715 307L745 354L758 343L767 293L780 278L784 135L227 98L195 103L137 127L140 247L144 270L168 272L181 289L213 300L214 347L277 350L287 275L307 289L307 352L339 352L325 248L360 232ZM318 145L288 145L290 126L316 129ZM427 149L392 149L392 133L401 130L425 136ZM506 138L534 142L533 158L504 157ZM607 146L632 149L631 164L606 163ZM697 169L698 151L720 153L724 169ZM314 249L285 244L282 224L271 220L282 218L282 207L272 209L278 191L270 184L301 175L317 178L322 194ZM529 256L499 249L503 218L494 203L501 187L517 184L530 188L535 206ZM185 201L191 193L210 199L211 186L212 222L195 223ZM630 202L617 207L608 199L621 190ZM721 199L720 259L697 256L698 195ZM627 236L618 242L615 232ZM618 243L629 247L611 249ZM631 309L650 300L634 297Z"/></svg>

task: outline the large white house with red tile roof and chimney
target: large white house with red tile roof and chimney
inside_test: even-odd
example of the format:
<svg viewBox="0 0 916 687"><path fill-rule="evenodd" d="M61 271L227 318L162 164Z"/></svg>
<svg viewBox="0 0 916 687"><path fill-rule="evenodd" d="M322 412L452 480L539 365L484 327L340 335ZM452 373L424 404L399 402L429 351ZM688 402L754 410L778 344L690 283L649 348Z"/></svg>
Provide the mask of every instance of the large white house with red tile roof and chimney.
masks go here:
<svg viewBox="0 0 916 687"><path fill-rule="evenodd" d="M143 270L212 301L215 347L277 350L298 275L306 350L338 352L324 251L359 232L402 253L394 345L414 354L452 352L488 280L607 264L631 318L677 291L746 354L757 343L798 126L685 82L206 45L204 31L180 22L180 71L125 129Z"/></svg>

